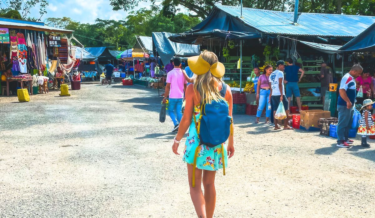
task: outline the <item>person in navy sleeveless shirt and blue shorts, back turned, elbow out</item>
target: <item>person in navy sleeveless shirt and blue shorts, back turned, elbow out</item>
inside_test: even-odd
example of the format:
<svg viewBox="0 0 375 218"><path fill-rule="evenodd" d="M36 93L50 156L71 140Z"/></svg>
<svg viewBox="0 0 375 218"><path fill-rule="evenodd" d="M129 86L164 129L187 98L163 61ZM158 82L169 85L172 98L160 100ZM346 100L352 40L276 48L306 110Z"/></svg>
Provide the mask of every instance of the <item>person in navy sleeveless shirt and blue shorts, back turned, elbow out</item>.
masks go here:
<svg viewBox="0 0 375 218"><path fill-rule="evenodd" d="M287 59L288 65L285 67L285 80L284 83L286 86L286 94L290 105L290 100L292 99L292 95L296 97L297 106L299 111L301 112L301 94L300 88L298 87L298 83L301 81L305 71L302 70L298 65L293 65L293 60L291 58ZM301 72L301 76L298 78L298 72Z"/></svg>

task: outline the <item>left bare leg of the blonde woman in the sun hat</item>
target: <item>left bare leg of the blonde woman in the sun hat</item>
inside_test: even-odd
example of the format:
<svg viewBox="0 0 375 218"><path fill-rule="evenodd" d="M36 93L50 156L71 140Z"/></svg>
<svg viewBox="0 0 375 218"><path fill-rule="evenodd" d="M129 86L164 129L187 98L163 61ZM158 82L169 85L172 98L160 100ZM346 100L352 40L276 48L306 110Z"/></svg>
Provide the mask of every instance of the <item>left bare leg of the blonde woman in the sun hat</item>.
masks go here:
<svg viewBox="0 0 375 218"><path fill-rule="evenodd" d="M204 200L202 187L201 187L202 170L198 168L195 169L195 187L193 187L192 185L193 165L187 164L187 177L189 179L190 197L193 202L196 215L198 215L199 218L207 218L205 200Z"/></svg>

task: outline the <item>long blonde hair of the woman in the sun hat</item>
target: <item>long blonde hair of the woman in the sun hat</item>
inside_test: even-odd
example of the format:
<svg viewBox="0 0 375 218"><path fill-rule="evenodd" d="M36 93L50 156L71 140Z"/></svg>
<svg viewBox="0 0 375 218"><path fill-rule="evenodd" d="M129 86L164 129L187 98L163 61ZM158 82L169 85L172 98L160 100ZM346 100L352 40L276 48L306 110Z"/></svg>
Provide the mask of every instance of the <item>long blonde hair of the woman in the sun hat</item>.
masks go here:
<svg viewBox="0 0 375 218"><path fill-rule="evenodd" d="M215 53L208 50L204 50L201 53L201 56L210 65L213 65L218 61ZM210 104L211 101L220 101L220 99L223 99L223 97L220 95L219 88L216 86L222 82L222 77L214 77L210 70L208 70L207 73L197 75L195 77L194 90L195 92L199 92L199 95L201 95L201 102L203 104Z"/></svg>

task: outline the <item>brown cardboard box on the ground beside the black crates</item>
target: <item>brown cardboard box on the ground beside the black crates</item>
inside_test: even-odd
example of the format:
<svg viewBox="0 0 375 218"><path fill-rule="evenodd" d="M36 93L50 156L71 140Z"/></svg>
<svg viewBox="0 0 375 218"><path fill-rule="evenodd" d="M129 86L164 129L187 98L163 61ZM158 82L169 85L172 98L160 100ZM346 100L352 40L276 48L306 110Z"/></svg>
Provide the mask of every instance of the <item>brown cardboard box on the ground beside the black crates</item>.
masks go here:
<svg viewBox="0 0 375 218"><path fill-rule="evenodd" d="M324 110L307 110L301 111L300 129L306 131L320 131L322 125L321 118L330 118L331 112Z"/></svg>

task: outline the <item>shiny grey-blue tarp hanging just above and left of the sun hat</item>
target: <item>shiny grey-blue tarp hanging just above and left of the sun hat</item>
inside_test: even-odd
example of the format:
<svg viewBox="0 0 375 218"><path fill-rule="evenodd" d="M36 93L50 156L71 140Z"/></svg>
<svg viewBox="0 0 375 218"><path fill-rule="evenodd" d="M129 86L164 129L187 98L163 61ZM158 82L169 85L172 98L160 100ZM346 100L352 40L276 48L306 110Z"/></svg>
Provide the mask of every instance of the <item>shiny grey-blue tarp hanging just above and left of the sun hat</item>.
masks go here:
<svg viewBox="0 0 375 218"><path fill-rule="evenodd" d="M154 49L156 49L164 65L168 64L174 56L189 57L200 54L199 45L172 42L168 39L172 35L168 32L152 33Z"/></svg>

